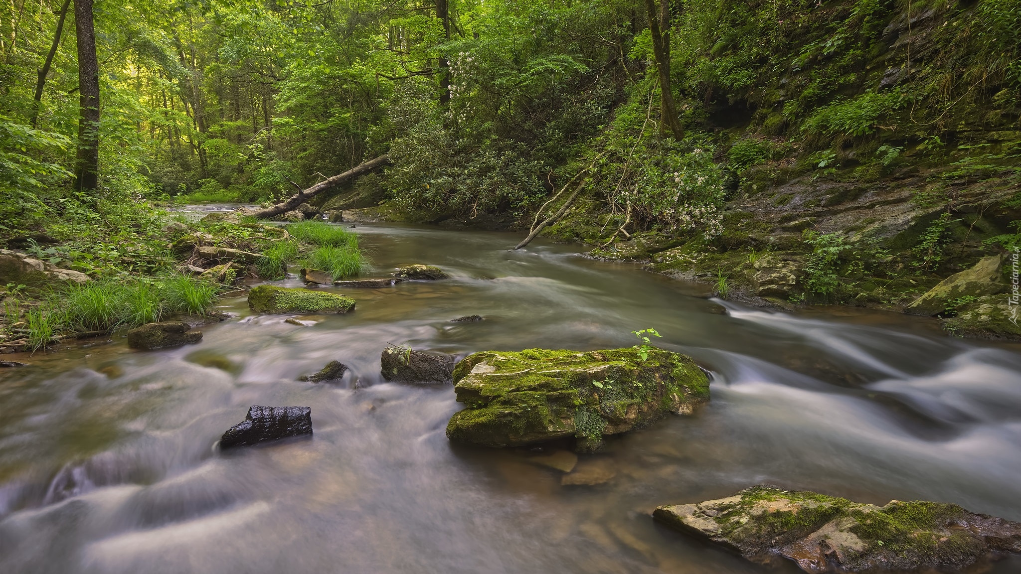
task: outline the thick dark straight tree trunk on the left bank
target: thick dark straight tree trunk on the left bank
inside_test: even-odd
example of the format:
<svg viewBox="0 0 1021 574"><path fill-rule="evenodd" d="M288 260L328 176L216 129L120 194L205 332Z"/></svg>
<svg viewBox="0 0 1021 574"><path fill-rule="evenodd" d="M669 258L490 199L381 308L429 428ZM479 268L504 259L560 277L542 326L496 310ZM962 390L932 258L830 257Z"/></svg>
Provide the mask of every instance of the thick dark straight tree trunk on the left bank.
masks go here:
<svg viewBox="0 0 1021 574"><path fill-rule="evenodd" d="M96 189L99 184L99 61L96 33L92 22L92 0L75 0L75 30L78 32L78 157L75 161L75 189Z"/></svg>

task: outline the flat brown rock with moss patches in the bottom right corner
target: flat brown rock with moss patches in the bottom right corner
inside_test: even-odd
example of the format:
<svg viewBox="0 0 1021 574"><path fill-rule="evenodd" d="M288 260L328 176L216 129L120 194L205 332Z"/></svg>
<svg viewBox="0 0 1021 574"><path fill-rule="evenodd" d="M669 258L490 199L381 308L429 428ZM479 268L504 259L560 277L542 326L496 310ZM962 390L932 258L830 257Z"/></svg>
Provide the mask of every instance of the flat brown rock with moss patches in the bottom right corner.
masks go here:
<svg viewBox="0 0 1021 574"><path fill-rule="evenodd" d="M1021 524L957 505L863 505L767 485L652 516L744 558L793 560L806 572L962 570L990 553L1021 552Z"/></svg>

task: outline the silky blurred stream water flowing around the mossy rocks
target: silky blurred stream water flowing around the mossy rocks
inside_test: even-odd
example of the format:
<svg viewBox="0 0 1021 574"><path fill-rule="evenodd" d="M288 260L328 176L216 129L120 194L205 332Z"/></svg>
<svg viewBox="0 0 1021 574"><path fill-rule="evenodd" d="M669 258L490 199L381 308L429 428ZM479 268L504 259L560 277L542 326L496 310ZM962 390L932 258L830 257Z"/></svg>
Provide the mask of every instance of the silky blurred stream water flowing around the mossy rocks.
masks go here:
<svg viewBox="0 0 1021 574"><path fill-rule="evenodd" d="M891 314L756 310L576 246L359 225L376 274L354 313L233 320L201 343L121 337L0 372L0 572L756 573L651 510L773 483L1021 520L1021 354ZM297 286L297 281L280 282ZM478 323L450 320L481 315ZM713 372L712 401L583 456L562 486L527 449L450 444L450 386L387 383L380 351L630 346L632 330ZM8 355L9 356L9 355ZM297 377L338 360L336 384ZM307 405L314 435L222 452L251 404ZM1021 572L1021 560L990 572Z"/></svg>

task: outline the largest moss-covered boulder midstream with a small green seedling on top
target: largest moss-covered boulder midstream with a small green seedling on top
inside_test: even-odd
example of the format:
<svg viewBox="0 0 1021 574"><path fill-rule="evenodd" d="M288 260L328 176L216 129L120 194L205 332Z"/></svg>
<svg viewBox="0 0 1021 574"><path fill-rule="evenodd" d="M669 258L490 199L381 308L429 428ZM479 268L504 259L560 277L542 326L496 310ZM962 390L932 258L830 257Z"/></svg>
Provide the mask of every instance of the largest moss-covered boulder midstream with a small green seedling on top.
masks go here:
<svg viewBox="0 0 1021 574"><path fill-rule="evenodd" d="M469 355L453 372L457 400L447 437L486 446L577 438L591 451L602 437L709 400L709 378L691 358L635 348L577 352L527 349Z"/></svg>

